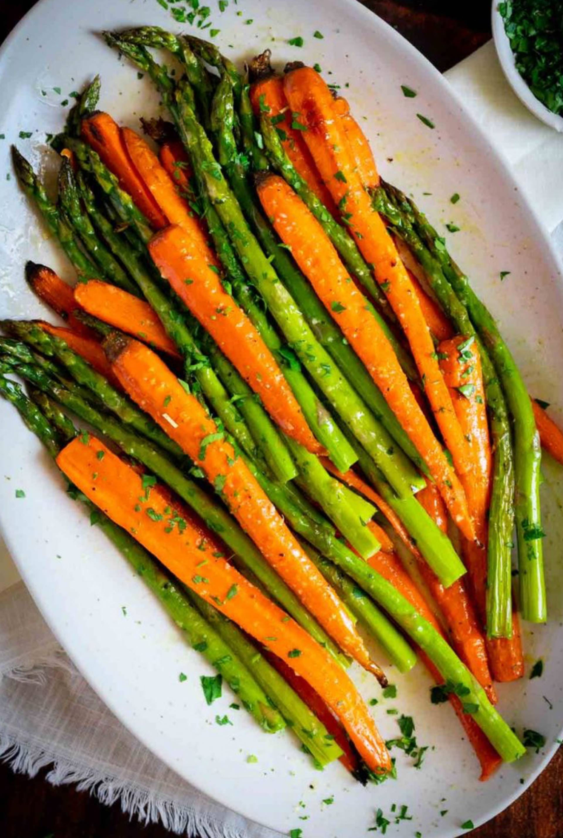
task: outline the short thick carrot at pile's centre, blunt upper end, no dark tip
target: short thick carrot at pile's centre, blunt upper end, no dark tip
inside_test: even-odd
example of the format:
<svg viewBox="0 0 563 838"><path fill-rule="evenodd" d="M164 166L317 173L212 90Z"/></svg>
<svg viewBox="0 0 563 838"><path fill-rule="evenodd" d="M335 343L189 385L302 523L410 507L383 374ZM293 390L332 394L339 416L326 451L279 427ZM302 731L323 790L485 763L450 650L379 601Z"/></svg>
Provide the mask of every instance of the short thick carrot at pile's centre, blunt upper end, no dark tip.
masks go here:
<svg viewBox="0 0 563 838"><path fill-rule="evenodd" d="M170 226L157 233L149 250L163 277L258 393L272 419L309 451L320 453L270 349L185 228Z"/></svg>

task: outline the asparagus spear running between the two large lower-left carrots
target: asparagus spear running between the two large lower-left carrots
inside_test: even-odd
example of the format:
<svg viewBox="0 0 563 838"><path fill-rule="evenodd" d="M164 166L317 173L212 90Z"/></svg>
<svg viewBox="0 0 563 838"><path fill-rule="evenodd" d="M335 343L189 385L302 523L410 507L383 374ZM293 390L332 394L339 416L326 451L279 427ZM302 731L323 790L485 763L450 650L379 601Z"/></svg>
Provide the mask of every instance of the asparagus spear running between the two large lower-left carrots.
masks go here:
<svg viewBox="0 0 563 838"><path fill-rule="evenodd" d="M235 554L233 561L242 572L250 568L260 582L266 587L271 597L285 608L287 613L307 630L311 636L323 644L333 654L336 660L342 665L348 665L346 657L338 650L338 647L325 634L318 623L303 608L292 590L272 570L261 552L256 548L254 542L245 535L240 526L233 520L224 507L211 499L194 480L186 477L183 471L172 463L163 451L159 450L152 442L139 436L136 432L127 427L127 421L123 424L113 416L101 413L96 407L90 405L80 396L77 396L73 389L67 389L48 375L43 370L32 365L18 365L15 367L18 375L21 375L40 390L53 396L56 401L68 410L79 416L84 422L88 422L97 431L105 434L113 442L121 447L130 457L142 463L151 473L154 473L163 483L168 484L176 494L196 512L209 530L217 533L222 541L230 547ZM121 418L121 417L120 417ZM278 485L278 484L272 484ZM281 491L284 487L278 485Z"/></svg>

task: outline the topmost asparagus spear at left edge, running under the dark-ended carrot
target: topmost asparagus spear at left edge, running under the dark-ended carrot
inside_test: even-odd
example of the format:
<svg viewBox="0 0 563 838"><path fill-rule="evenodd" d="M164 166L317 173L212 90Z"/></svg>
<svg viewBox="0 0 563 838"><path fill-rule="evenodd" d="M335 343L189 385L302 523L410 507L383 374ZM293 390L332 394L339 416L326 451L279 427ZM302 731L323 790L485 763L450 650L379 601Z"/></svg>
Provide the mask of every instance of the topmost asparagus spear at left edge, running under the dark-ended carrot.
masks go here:
<svg viewBox="0 0 563 838"><path fill-rule="evenodd" d="M150 416L143 413L127 396L123 396L116 391L106 381L103 375L93 370L85 360L80 358L80 355L77 355L69 349L63 339L47 334L33 320L2 320L0 321L0 326L8 334L13 334L15 337L23 340L24 343L33 346L34 349L39 349L39 352L47 355L49 358L59 360L80 385L84 385L90 391L96 393L96 396L102 404L108 410L116 413L122 422L127 422L127 424L134 427L139 433L142 433L143 436L148 437L160 445L160 447L163 447L168 453L173 454L175 458L184 458L182 449L176 442L173 442L173 440L167 437L158 425L152 422Z"/></svg>

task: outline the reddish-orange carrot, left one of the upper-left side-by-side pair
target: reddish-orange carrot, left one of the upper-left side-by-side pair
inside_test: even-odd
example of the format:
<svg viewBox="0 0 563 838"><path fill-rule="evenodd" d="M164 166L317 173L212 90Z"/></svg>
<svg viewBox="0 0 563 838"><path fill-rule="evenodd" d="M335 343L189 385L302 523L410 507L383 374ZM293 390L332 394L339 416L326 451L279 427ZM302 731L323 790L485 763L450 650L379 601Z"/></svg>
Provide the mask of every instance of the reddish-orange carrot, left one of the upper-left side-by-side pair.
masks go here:
<svg viewBox="0 0 563 838"><path fill-rule="evenodd" d="M133 166L115 120L109 114L97 111L82 120L80 131L85 141L100 155L102 162L116 175L121 188L131 195L137 207L147 216L151 225L158 230L166 226L166 217Z"/></svg>

